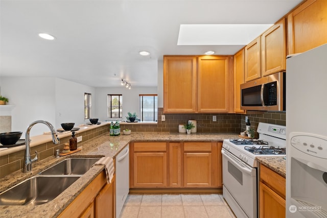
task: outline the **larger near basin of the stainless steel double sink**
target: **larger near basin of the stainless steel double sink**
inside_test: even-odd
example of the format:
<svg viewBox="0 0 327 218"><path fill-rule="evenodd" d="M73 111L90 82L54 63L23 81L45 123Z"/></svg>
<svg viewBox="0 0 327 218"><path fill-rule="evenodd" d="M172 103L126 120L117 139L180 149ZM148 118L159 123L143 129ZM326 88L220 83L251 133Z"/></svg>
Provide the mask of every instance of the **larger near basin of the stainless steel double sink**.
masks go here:
<svg viewBox="0 0 327 218"><path fill-rule="evenodd" d="M40 205L52 201L80 176L34 176L0 194L0 205Z"/></svg>

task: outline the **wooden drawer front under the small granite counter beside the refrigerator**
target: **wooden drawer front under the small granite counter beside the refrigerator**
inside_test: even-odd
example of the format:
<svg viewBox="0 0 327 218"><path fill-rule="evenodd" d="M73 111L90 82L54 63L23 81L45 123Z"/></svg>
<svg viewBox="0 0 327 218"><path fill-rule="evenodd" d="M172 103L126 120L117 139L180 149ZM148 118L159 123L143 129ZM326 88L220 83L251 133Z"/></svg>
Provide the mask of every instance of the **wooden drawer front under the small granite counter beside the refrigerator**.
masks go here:
<svg viewBox="0 0 327 218"><path fill-rule="evenodd" d="M271 187L274 191L278 192L280 195L282 195L282 197L285 198L285 178L262 164L260 164L260 181Z"/></svg>

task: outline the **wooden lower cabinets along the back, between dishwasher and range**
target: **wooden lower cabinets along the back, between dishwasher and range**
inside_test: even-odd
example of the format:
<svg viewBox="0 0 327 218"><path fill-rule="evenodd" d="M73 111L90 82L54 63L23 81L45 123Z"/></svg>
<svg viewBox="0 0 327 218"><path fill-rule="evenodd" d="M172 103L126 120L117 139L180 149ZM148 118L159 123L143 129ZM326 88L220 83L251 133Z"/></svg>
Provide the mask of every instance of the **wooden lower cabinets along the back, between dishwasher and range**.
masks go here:
<svg viewBox="0 0 327 218"><path fill-rule="evenodd" d="M222 142L133 142L130 187L221 188Z"/></svg>

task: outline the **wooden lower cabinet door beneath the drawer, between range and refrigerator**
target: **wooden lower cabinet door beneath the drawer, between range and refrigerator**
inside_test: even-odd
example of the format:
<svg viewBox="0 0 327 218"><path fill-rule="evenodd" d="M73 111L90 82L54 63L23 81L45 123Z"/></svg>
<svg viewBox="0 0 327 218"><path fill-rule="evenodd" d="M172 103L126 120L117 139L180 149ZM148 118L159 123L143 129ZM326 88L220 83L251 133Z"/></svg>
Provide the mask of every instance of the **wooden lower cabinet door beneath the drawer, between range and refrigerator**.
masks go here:
<svg viewBox="0 0 327 218"><path fill-rule="evenodd" d="M285 199L277 195L264 183L259 183L259 217L275 218L285 217Z"/></svg>

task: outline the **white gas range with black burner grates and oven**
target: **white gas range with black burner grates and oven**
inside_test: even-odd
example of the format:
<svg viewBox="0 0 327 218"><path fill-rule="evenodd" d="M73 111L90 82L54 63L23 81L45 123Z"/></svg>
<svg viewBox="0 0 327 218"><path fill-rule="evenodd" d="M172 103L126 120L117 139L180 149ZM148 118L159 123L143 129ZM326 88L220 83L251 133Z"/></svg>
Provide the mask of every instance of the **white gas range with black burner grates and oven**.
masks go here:
<svg viewBox="0 0 327 218"><path fill-rule="evenodd" d="M286 156L286 127L259 123L259 139L225 139L223 196L237 217L258 217L256 157Z"/></svg>

